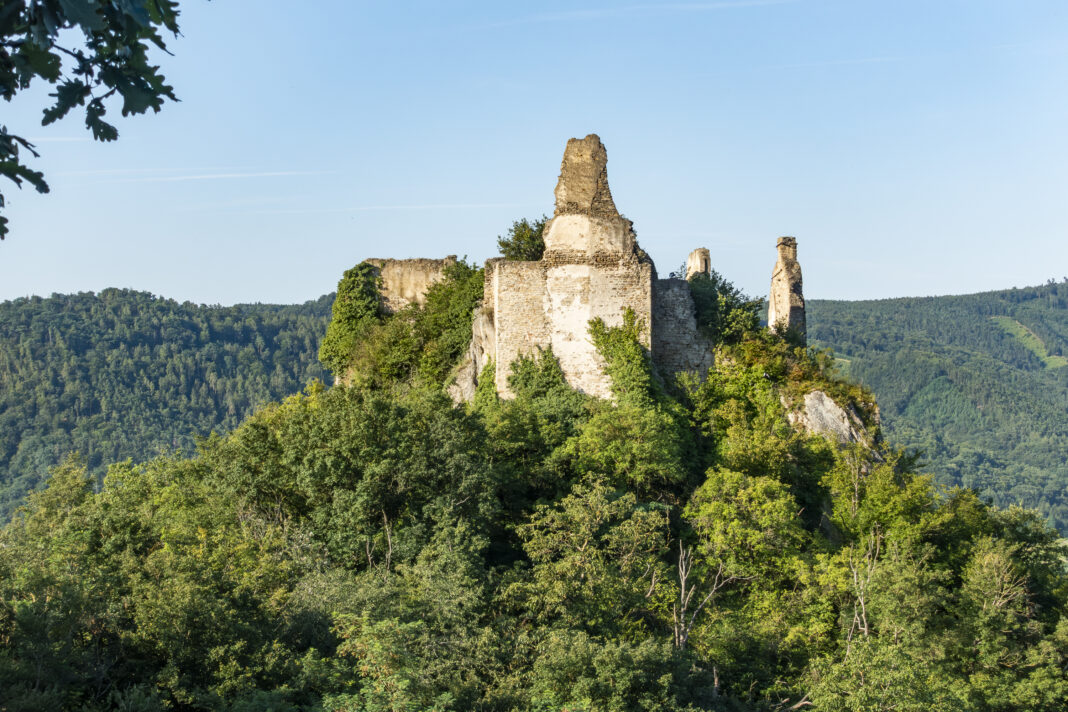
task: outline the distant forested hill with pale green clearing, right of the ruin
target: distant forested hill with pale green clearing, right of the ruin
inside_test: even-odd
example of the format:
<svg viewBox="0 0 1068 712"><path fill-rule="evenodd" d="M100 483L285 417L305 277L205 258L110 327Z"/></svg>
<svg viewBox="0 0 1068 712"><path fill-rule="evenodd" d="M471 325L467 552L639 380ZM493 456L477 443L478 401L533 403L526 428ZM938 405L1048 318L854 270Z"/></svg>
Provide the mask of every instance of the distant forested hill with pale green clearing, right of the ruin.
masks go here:
<svg viewBox="0 0 1068 712"><path fill-rule="evenodd" d="M813 344L875 392L892 443L1068 531L1068 281L807 306Z"/></svg>

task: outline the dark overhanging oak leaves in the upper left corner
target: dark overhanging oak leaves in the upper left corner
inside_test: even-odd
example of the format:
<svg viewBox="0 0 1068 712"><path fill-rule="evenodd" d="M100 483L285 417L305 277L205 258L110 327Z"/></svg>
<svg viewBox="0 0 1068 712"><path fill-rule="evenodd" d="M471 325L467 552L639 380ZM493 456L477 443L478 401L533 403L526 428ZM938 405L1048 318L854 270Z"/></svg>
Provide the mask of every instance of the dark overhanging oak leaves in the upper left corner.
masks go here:
<svg viewBox="0 0 1068 712"><path fill-rule="evenodd" d="M110 97L122 97L124 116L158 112L164 99L177 100L159 67L148 61L150 46L167 50L162 31L177 35L177 18L174 0L6 1L0 10L0 96L11 101L44 80L56 85L56 102L45 109L43 125L85 107L85 127L93 138L114 141L119 130L104 121ZM80 34L76 44L60 44L66 30ZM25 138L0 127L0 175L18 187L26 181L48 192L44 175L27 165L23 151L38 155ZM6 233L7 220L0 216L0 239Z"/></svg>

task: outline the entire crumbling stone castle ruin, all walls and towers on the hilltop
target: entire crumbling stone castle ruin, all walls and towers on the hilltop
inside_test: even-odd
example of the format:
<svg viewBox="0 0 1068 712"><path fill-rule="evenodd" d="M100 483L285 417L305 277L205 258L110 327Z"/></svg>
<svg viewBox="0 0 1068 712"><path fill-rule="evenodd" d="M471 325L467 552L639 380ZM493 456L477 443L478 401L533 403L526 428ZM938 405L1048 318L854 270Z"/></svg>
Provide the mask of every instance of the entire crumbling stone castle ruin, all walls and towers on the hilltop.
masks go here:
<svg viewBox="0 0 1068 712"><path fill-rule="evenodd" d="M689 280L708 274L707 249L690 253L686 279L660 279L649 256L638 246L632 223L619 215L608 184L608 154L600 139L590 135L571 139L564 151L555 189L555 209L543 232L540 259L517 262L494 257L486 262L485 291L475 310L468 352L455 374L450 393L457 401L474 396L478 378L492 364L497 392L511 397L508 375L520 355L551 349L567 382L592 396L611 396L604 363L590 338L592 319L609 327L623 323L631 310L645 326L641 339L663 377L690 373L698 378L712 365L713 345L697 327ZM783 240L791 240L792 264L784 263ZM794 238L780 240L780 263L772 280L772 310L788 314L790 326L804 325L800 299L800 267ZM441 279L450 260L374 259L389 311L422 303L426 289ZM784 265L780 269L780 265ZM780 273L797 275L800 311L783 312L776 301ZM794 283L787 291L794 294Z"/></svg>

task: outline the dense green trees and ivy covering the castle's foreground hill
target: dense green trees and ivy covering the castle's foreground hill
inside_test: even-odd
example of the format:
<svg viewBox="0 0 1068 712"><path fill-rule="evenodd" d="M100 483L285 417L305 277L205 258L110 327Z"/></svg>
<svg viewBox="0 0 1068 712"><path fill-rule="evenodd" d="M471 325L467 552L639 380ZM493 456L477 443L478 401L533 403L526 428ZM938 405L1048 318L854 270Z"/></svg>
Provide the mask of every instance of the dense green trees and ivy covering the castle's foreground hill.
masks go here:
<svg viewBox="0 0 1068 712"><path fill-rule="evenodd" d="M1065 547L944 489L871 395L694 284L718 343L665 380L647 325L590 323L613 398L551 351L443 393L482 271L387 316L339 285L344 383L192 457L84 460L0 532L0 709L1008 712L1068 705ZM819 390L865 439L790 426Z"/></svg>

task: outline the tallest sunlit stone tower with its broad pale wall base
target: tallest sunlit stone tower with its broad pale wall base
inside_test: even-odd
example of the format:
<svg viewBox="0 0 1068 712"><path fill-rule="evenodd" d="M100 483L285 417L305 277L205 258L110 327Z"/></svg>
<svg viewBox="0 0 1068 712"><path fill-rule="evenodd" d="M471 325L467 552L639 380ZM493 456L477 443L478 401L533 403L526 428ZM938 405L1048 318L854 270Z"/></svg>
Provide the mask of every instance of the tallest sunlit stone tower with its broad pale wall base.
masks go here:
<svg viewBox="0 0 1068 712"><path fill-rule="evenodd" d="M608 154L600 139L571 139L556 183L556 206L545 226L538 262L503 258L486 263L482 314L491 341L498 392L511 396L508 375L521 354L551 348L574 387L607 398L610 382L590 341L588 325L623 322L625 308L645 325L651 345L651 260L638 249L629 220L619 215L608 187Z"/></svg>

